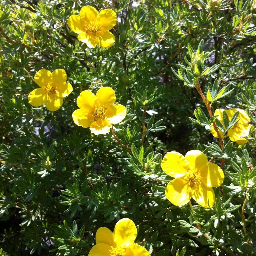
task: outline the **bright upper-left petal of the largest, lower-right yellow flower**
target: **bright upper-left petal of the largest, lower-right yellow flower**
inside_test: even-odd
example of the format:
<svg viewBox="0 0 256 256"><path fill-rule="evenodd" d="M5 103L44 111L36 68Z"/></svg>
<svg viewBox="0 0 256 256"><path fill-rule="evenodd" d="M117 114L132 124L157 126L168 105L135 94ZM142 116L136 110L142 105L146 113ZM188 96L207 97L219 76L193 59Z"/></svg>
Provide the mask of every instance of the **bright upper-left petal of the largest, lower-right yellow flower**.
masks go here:
<svg viewBox="0 0 256 256"><path fill-rule="evenodd" d="M161 167L167 175L173 178L180 178L187 172L188 161L178 152L167 152L163 158Z"/></svg>

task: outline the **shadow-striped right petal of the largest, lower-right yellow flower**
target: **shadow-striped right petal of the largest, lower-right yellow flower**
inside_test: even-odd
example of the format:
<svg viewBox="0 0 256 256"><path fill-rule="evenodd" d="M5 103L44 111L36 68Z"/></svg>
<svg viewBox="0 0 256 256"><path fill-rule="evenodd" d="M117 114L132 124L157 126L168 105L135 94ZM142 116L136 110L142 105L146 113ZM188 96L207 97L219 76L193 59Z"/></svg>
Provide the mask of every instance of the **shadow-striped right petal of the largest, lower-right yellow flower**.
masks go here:
<svg viewBox="0 0 256 256"><path fill-rule="evenodd" d="M199 169L199 179L206 187L219 187L224 180L222 169L214 163L206 163Z"/></svg>

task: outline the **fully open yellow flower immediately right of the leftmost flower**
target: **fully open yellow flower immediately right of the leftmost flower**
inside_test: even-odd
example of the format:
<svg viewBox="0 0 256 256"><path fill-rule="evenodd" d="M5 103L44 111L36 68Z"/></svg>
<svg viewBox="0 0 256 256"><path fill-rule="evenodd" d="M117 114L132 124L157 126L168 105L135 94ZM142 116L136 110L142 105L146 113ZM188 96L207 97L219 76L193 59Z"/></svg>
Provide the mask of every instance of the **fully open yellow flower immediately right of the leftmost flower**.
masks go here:
<svg viewBox="0 0 256 256"><path fill-rule="evenodd" d="M112 124L120 123L126 116L123 105L113 105L116 101L115 91L110 87L101 87L96 95L85 90L76 100L79 109L73 114L75 124L90 127L92 133L107 134Z"/></svg>

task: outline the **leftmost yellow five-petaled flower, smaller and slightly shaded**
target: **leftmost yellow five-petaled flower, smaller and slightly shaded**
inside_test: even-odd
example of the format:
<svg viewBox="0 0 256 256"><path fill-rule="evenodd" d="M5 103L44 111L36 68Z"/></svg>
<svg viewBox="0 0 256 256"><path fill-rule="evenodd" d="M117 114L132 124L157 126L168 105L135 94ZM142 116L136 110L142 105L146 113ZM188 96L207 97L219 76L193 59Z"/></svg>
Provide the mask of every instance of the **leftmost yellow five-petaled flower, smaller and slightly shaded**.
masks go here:
<svg viewBox="0 0 256 256"><path fill-rule="evenodd" d="M45 103L50 111L58 110L63 103L62 98L67 97L73 91L72 85L66 81L67 74L64 69L56 69L53 72L40 69L36 72L35 82L41 88L29 93L28 102L34 107Z"/></svg>

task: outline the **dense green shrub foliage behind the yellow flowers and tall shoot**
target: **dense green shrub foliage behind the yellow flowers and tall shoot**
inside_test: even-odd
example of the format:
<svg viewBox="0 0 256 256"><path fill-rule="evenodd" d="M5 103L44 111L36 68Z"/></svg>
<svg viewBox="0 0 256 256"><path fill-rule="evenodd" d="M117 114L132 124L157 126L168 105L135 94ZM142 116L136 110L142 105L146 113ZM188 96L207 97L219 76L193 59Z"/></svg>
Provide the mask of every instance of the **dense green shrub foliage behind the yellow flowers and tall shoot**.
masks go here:
<svg viewBox="0 0 256 256"><path fill-rule="evenodd" d="M84 5L117 12L111 48L89 49L68 28L68 17ZM234 88L213 109L239 103L252 114L256 109L256 6L222 0L211 12L206 5L206 0L1 1L0 255L87 255L97 228L113 230L124 217L138 225L136 242L151 255L255 255L254 138L225 149L226 176L224 186L215 189L214 209L195 206L193 213L164 196L170 178L160 169L162 155L197 148L210 159L216 152L207 143L218 144L188 119L195 118L197 107L207 115L206 108L197 91L171 71L184 64L188 43L196 49L204 39L204 50L214 50L204 66L221 64L200 78L205 94L214 79L219 88L228 83ZM31 77L41 68L65 69L74 88L57 112L28 103L28 93L37 88ZM80 92L101 86L114 88L117 101L129 108L116 135L132 153L111 133L95 136L72 120ZM219 158L214 162L220 165ZM240 175L230 158L238 167L242 162Z"/></svg>

